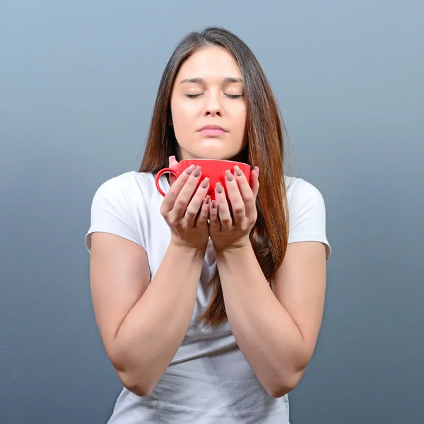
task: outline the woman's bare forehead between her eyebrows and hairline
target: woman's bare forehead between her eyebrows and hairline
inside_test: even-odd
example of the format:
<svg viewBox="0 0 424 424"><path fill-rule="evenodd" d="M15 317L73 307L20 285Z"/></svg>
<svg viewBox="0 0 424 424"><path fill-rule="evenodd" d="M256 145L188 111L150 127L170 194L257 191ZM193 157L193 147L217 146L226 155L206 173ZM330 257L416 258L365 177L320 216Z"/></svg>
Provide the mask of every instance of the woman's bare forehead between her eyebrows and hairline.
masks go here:
<svg viewBox="0 0 424 424"><path fill-rule="evenodd" d="M232 54L223 47L204 47L182 64L177 82L184 78L204 78L205 81L223 78L242 78Z"/></svg>

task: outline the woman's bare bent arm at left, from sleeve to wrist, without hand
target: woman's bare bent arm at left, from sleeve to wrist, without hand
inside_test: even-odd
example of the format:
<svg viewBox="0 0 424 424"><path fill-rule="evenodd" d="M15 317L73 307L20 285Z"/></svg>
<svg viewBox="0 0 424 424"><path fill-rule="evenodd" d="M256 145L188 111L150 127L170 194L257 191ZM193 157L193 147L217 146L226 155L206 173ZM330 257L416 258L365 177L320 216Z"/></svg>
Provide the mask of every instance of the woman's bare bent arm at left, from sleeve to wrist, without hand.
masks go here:
<svg viewBox="0 0 424 424"><path fill-rule="evenodd" d="M124 386L150 394L184 339L192 318L204 252L172 242L150 281L136 243L95 232L90 285L105 350Z"/></svg>

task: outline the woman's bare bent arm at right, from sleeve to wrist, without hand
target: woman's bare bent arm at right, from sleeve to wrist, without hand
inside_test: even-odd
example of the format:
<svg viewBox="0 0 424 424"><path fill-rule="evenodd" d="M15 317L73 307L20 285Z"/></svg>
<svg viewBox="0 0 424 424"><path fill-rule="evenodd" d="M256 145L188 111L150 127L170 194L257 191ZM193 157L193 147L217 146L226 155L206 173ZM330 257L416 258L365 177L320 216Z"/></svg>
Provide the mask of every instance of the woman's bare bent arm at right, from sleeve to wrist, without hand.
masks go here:
<svg viewBox="0 0 424 424"><path fill-rule="evenodd" d="M251 245L217 254L232 333L270 396L296 387L322 322L326 257L320 242L288 245L271 287Z"/></svg>

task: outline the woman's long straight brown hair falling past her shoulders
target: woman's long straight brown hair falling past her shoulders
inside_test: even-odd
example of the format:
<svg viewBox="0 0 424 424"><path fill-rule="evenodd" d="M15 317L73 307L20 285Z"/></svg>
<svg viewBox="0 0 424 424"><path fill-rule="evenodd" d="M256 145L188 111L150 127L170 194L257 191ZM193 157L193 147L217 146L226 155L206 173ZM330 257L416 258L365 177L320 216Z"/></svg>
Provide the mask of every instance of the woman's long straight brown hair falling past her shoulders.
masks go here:
<svg viewBox="0 0 424 424"><path fill-rule="evenodd" d="M250 232L254 253L267 281L283 262L288 242L288 204L284 181L285 126L269 82L245 42L228 30L209 27L186 35L175 48L160 81L146 150L139 172L155 174L168 165L168 157L179 160L178 143L170 123L170 98L182 63L202 47L223 47L240 66L247 99L247 146L240 161L258 166L261 187L257 196L257 222ZM213 297L199 316L211 326L227 319L218 268L211 281Z"/></svg>

